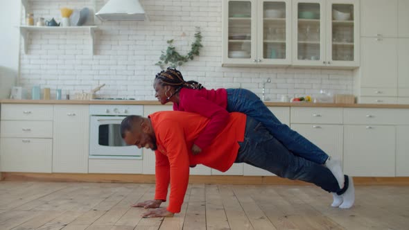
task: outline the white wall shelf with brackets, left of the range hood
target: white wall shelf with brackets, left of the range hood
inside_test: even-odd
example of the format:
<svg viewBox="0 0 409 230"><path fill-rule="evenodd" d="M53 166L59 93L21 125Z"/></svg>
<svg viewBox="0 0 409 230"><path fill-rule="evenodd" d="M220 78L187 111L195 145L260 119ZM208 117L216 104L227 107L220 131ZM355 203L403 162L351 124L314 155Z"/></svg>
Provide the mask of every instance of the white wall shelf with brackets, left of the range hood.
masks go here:
<svg viewBox="0 0 409 230"><path fill-rule="evenodd" d="M19 26L21 37L24 39L24 53L27 54L30 34L40 31L88 31L91 39L90 53L94 55L94 33L98 26Z"/></svg>

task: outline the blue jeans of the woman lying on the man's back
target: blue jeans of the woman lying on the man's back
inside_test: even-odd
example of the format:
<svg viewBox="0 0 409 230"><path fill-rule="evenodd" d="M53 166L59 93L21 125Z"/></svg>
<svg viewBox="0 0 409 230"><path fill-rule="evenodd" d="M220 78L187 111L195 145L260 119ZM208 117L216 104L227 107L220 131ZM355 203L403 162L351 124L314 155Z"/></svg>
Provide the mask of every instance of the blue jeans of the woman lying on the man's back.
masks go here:
<svg viewBox="0 0 409 230"><path fill-rule="evenodd" d="M227 111L241 112L263 123L267 130L288 150L315 163L323 164L328 154L304 136L291 130L272 114L256 94L247 89L227 89Z"/></svg>

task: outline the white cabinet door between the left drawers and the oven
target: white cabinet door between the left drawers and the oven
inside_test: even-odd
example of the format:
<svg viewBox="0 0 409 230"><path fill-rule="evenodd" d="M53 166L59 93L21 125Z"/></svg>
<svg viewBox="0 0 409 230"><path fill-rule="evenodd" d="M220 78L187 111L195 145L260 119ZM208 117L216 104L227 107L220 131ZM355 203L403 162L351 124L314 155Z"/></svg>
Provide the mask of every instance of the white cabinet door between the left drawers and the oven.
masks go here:
<svg viewBox="0 0 409 230"><path fill-rule="evenodd" d="M53 172L88 172L89 106L54 105Z"/></svg>

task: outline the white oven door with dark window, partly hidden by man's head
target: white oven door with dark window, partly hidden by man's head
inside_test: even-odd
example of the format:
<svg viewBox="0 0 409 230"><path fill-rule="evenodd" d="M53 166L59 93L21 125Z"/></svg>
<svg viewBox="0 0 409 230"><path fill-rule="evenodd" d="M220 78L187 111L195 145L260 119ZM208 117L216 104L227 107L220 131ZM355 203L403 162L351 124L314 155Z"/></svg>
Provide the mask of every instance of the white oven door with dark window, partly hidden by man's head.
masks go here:
<svg viewBox="0 0 409 230"><path fill-rule="evenodd" d="M141 159L142 150L126 145L121 137L121 122L125 116L91 116L89 157Z"/></svg>

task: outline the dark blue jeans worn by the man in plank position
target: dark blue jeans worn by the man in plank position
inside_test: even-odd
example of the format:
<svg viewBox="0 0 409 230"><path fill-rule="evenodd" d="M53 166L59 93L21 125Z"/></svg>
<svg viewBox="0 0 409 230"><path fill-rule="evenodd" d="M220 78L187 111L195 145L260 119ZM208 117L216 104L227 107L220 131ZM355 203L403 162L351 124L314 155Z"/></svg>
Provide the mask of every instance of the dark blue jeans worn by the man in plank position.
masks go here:
<svg viewBox="0 0 409 230"><path fill-rule="evenodd" d="M248 163L279 177L299 179L331 193L343 193L327 167L293 154L261 122L250 116L247 116L244 140L238 144L236 163Z"/></svg>

